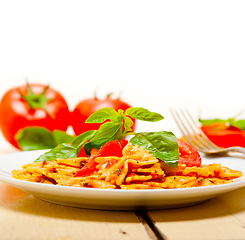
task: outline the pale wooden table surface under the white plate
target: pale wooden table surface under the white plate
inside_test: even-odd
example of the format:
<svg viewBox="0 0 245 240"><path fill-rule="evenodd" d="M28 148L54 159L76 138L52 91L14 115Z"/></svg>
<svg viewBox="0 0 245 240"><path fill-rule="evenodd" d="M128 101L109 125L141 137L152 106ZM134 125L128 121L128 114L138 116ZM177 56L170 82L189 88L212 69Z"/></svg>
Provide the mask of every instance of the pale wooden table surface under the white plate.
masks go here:
<svg viewBox="0 0 245 240"><path fill-rule="evenodd" d="M245 188L192 207L123 212L51 204L0 183L0 239L245 240Z"/></svg>

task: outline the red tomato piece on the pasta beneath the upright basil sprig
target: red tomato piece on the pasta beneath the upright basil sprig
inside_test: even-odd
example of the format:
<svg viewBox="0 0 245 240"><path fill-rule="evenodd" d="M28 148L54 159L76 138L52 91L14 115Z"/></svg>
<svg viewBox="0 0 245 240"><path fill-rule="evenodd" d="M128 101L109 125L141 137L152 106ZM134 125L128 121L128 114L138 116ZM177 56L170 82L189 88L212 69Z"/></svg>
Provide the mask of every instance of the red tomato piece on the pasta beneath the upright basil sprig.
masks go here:
<svg viewBox="0 0 245 240"><path fill-rule="evenodd" d="M98 171L98 169L96 168L98 163L95 162L95 158L97 157L122 157L122 150L127 145L127 143L128 141L126 139L123 139L121 143L118 140L112 140L106 143L95 155L89 158L88 163L80 171L77 172L75 177L88 176L93 172Z"/></svg>

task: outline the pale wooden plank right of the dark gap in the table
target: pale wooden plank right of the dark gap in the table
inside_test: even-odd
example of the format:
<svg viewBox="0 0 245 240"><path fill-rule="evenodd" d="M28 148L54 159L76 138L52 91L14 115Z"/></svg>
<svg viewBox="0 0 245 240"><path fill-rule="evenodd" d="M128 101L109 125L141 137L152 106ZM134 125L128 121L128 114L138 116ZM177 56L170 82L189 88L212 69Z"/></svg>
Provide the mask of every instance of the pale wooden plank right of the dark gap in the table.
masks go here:
<svg viewBox="0 0 245 240"><path fill-rule="evenodd" d="M196 206L149 214L168 240L242 240L245 239L245 188Z"/></svg>

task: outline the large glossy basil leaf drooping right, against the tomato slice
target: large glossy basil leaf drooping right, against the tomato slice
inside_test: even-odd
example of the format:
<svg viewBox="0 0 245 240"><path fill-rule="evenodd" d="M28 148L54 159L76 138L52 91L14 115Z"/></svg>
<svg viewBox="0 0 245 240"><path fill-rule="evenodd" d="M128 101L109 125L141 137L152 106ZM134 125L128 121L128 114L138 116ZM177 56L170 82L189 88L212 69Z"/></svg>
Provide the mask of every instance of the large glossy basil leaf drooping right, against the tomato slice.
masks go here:
<svg viewBox="0 0 245 240"><path fill-rule="evenodd" d="M144 147L155 157L166 162L172 167L177 167L179 161L179 145L172 132L141 132L130 139L130 142L139 147Z"/></svg>

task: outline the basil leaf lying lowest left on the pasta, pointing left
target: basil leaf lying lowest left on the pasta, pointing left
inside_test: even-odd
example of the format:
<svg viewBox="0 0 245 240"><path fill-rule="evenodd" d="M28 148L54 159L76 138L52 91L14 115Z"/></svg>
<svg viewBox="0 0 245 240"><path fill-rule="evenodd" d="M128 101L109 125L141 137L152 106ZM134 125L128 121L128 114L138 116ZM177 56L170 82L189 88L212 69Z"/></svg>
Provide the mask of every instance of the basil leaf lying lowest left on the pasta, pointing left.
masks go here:
<svg viewBox="0 0 245 240"><path fill-rule="evenodd" d="M67 159L75 157L77 157L76 147L70 144L62 143L50 151L42 154L34 162L53 161L57 158Z"/></svg>

